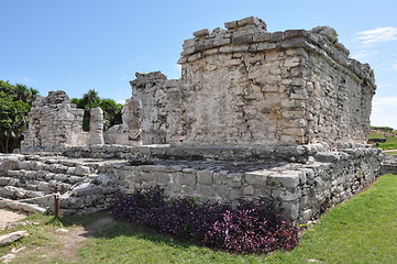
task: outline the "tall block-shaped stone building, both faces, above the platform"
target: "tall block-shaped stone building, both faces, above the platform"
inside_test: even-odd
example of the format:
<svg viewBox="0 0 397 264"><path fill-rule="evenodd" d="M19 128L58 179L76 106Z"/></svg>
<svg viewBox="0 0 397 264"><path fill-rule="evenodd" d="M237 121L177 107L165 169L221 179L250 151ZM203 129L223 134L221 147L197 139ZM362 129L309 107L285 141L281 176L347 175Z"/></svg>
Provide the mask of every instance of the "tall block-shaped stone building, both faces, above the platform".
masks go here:
<svg viewBox="0 0 397 264"><path fill-rule="evenodd" d="M184 144L364 142L376 86L331 28L269 33L256 18L184 43Z"/></svg>

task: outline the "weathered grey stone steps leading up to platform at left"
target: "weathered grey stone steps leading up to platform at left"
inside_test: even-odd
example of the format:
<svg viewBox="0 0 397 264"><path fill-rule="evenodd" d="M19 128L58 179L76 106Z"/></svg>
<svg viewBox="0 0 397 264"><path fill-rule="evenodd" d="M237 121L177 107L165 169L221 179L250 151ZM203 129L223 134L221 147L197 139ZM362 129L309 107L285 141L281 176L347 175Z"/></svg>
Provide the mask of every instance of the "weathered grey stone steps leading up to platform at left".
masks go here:
<svg viewBox="0 0 397 264"><path fill-rule="evenodd" d="M101 164L103 161L70 160L54 153L0 155L0 208L54 211L57 186L63 215L106 209L118 188L109 186L111 176L98 174Z"/></svg>

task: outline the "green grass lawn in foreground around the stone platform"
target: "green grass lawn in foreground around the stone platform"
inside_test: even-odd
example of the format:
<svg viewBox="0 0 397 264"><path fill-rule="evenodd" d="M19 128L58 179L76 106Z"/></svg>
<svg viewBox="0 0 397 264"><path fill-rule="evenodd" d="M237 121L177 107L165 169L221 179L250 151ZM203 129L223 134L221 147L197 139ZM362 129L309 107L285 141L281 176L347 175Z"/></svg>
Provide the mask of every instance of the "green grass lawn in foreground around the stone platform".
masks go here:
<svg viewBox="0 0 397 264"><path fill-rule="evenodd" d="M53 246L51 230L64 224L86 224L92 218L66 218L59 223L51 217L33 216L40 226L16 245ZM38 219L38 220L37 220ZM1 231L3 232L3 231ZM46 234L48 233L48 234ZM382 176L371 188L326 213L302 235L293 252L269 255L233 255L184 243L168 235L155 234L124 223L110 223L87 239L74 260L53 258L21 253L12 263L397 263L397 175ZM55 243L55 244L54 244ZM34 246L33 246L34 248ZM0 256L11 246L0 249ZM18 253L19 254L19 253ZM25 255L23 255L25 254ZM30 257L30 258L26 258ZM26 260L29 262L26 262Z"/></svg>

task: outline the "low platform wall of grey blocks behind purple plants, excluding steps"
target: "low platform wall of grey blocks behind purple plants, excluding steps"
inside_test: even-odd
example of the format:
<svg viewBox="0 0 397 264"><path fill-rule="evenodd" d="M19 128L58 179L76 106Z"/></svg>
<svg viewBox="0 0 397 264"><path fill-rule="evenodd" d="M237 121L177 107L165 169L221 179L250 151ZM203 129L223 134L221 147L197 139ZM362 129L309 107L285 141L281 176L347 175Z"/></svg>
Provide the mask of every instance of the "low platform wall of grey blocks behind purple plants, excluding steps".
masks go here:
<svg viewBox="0 0 397 264"><path fill-rule="evenodd" d="M297 223L317 218L372 183L381 168L379 150L368 147L331 151L327 144L309 147L306 163L154 162L151 165L109 165L124 194L159 185L167 197L198 197L212 201L267 197L279 202L286 218Z"/></svg>

